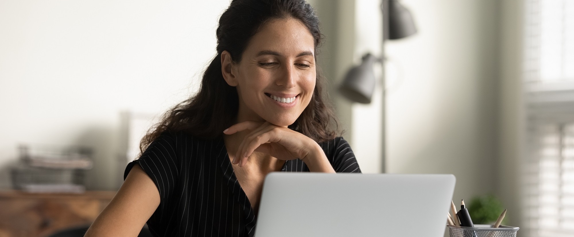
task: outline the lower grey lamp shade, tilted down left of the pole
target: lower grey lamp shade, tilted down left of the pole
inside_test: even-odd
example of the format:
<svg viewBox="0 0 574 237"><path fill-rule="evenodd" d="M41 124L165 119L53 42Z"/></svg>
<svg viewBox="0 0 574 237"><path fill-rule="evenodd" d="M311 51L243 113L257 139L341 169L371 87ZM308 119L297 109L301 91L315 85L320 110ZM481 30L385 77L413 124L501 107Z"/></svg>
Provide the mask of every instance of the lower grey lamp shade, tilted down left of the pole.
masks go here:
<svg viewBox="0 0 574 237"><path fill-rule="evenodd" d="M363 56L363 62L347 72L343 84L339 87L341 94L353 102L371 103L376 81L373 64L377 60L377 57L370 53Z"/></svg>

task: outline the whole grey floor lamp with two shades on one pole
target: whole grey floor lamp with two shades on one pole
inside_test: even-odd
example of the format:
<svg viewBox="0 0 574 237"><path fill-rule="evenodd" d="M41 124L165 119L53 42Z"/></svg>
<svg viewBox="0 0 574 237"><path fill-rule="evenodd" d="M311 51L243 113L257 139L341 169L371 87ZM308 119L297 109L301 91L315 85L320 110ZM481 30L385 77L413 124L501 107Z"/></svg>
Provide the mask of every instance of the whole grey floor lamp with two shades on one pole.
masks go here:
<svg viewBox="0 0 574 237"><path fill-rule="evenodd" d="M373 64L383 64L383 73L381 75L381 85L383 86L382 95L382 172L386 173L385 167L385 153L386 153L386 139L385 139L385 41L395 40L411 36L417 32L414 26L414 20L410 11L402 6L398 0L382 0L381 10L383 16L383 42L381 57L375 57L371 53L363 56L362 63L352 67L347 72L343 79L343 83L339 87L339 92L352 102L371 103L373 92L375 91L376 78L373 72Z"/></svg>

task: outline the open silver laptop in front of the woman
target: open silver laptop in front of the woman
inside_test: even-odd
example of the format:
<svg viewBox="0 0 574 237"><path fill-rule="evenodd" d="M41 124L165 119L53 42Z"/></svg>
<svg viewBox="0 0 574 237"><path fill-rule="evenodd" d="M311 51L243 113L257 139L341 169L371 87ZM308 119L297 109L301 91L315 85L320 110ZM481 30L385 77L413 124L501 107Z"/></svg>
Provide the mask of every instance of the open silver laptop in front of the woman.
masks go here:
<svg viewBox="0 0 574 237"><path fill-rule="evenodd" d="M452 174L267 174L256 237L442 237Z"/></svg>

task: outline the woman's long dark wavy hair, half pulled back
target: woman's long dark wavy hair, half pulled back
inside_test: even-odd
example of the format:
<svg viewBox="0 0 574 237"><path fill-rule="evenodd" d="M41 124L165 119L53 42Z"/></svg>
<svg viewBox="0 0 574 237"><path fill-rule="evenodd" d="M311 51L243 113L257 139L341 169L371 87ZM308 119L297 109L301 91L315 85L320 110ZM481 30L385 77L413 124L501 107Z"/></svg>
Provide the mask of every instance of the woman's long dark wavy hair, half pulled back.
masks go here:
<svg viewBox="0 0 574 237"><path fill-rule="evenodd" d="M153 126L139 144L144 151L164 131L185 131L203 139L223 135L223 130L236 123L239 102L235 87L223 79L221 53L227 50L233 63L239 63L250 38L265 22L294 18L309 29L315 40L315 55L323 35L319 18L304 0L233 0L219 18L217 28L217 55L205 69L199 92L170 108L159 123ZM338 120L325 100L325 79L317 68L315 91L309 105L289 127L316 142L338 136Z"/></svg>

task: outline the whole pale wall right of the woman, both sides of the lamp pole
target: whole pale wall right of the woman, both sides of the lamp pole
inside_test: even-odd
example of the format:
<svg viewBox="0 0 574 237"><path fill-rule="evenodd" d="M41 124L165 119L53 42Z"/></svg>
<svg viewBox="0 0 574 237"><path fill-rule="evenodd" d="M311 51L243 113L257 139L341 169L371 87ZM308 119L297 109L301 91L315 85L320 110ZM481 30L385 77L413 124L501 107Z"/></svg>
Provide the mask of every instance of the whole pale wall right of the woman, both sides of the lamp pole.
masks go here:
<svg viewBox="0 0 574 237"><path fill-rule="evenodd" d="M335 52L329 55L335 58L334 84L364 52L380 50L380 1L337 3L338 21L323 21L324 28L336 25ZM453 173L453 199L495 193L511 210L509 224L523 226L518 178L523 0L401 3L413 14L418 33L386 41L387 172ZM336 91L331 96L363 172L378 172L379 104L349 106ZM378 96L380 91L374 103Z"/></svg>

